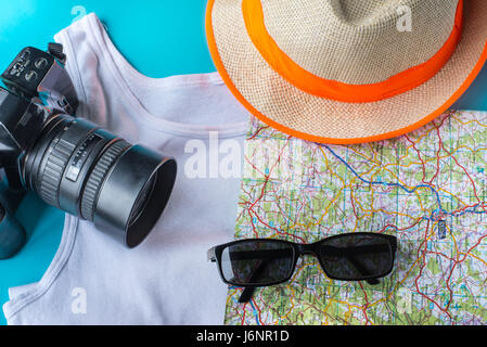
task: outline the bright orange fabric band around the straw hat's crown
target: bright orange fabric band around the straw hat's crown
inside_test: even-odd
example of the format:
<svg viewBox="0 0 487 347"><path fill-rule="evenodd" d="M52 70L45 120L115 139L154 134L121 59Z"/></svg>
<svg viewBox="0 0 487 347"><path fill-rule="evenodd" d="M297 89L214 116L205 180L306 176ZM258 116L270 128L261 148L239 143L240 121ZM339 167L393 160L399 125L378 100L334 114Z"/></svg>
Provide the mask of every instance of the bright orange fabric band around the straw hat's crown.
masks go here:
<svg viewBox="0 0 487 347"><path fill-rule="evenodd" d="M321 78L300 67L285 54L270 36L265 25L262 4L257 0L243 0L242 11L247 34L266 62L296 88L319 98L341 102L374 102L414 89L435 76L453 54L462 36L463 0L459 1L453 29L428 61L413 66L388 79L371 85L348 85Z"/></svg>

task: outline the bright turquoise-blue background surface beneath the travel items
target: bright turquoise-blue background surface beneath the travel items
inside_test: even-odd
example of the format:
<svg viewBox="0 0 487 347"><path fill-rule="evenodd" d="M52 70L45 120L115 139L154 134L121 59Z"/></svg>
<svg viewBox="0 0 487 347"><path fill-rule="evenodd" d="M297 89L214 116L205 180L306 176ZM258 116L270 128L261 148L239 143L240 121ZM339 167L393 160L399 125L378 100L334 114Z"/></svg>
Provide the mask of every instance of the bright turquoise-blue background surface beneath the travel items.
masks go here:
<svg viewBox="0 0 487 347"><path fill-rule="evenodd" d="M205 0L0 0L0 70L26 46L46 49L55 33L95 12L118 50L142 74L167 77L215 70L204 33ZM487 111L487 66L454 108ZM0 260L0 304L11 286L39 281L61 241L64 213L34 194L17 218L28 241L12 259ZM0 323L5 324L3 313Z"/></svg>

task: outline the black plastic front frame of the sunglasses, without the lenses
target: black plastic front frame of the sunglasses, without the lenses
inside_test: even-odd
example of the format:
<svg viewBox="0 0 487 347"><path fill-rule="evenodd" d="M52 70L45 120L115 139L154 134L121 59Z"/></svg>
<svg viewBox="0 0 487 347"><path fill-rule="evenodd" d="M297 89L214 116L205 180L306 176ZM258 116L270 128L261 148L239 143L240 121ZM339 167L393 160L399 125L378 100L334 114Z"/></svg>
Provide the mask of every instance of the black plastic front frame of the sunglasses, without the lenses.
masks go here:
<svg viewBox="0 0 487 347"><path fill-rule="evenodd" d="M323 266L323 261L321 260L320 257L320 246L324 241L330 241L332 239L338 239L338 237L344 237L344 236L350 236L350 235L369 235L369 236L374 236L374 237L382 237L385 241L387 241L388 245L390 246L390 257L392 257L392 261L390 261L390 268L387 269L387 271L385 271L384 273L380 274L380 275L370 275L370 277L362 277L362 278L357 278L354 280L350 279L344 279L344 278L338 278L338 277L334 277L334 275L330 275L325 269L325 267ZM240 284L240 283L232 283L230 281L228 281L225 275L223 275L223 269L221 267L221 255L223 253L223 249L239 244L239 243L245 243L245 242L252 242L252 241L265 241L265 242L272 242L272 243L282 243L285 244L287 246L291 246L293 249L293 266L290 269L290 273L286 275L285 279L283 280L279 280L279 281L274 281L274 282L269 282L266 284L259 284L259 283L246 283L246 284ZM373 232L354 232L354 233L344 233L344 234L337 234L337 235L333 235L333 236L329 236L325 239L322 239L318 242L313 242L313 243L308 243L308 244L299 244L299 243L294 243L291 241L285 241L285 240L279 240L279 239L242 239L242 240L236 240L236 241L232 241L226 244L221 244L215 247L212 247L208 250L208 261L213 261L216 262L218 266L218 272L220 274L221 280L229 284L229 285L234 285L238 287L261 287L261 286L271 286L271 285L277 285L277 284L281 284L281 283L285 283L289 282L291 280L291 278L294 274L294 271L296 270L296 264L297 264L297 259L302 256L302 255L312 255L315 256L320 266L321 269L323 270L324 274L331 279L331 280L337 280L337 281L368 281L368 280L375 280L375 279L380 279L380 278L384 278L386 275L388 275L393 269L394 269L394 264L396 260L396 250L397 250L397 237L394 235L386 235L386 234L380 234L380 233L373 233Z"/></svg>

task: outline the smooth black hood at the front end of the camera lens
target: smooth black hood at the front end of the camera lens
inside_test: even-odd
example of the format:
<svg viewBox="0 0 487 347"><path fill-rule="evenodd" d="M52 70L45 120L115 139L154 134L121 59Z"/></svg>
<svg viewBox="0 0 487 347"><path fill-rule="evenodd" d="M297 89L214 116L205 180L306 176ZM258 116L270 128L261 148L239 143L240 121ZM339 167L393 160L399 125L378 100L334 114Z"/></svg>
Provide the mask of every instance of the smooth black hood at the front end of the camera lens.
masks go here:
<svg viewBox="0 0 487 347"><path fill-rule="evenodd" d="M129 248L139 245L163 213L177 165L157 152L133 145L112 166L101 187L93 222Z"/></svg>

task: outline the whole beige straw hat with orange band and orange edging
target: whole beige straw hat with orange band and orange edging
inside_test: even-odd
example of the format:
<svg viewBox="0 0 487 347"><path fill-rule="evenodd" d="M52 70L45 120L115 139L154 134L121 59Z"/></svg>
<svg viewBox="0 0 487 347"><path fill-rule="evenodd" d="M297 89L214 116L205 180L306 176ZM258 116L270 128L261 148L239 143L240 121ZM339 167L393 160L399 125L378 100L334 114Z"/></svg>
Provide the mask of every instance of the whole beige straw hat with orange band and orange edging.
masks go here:
<svg viewBox="0 0 487 347"><path fill-rule="evenodd" d="M232 93L294 137L358 143L444 113L487 59L487 0L209 0Z"/></svg>

